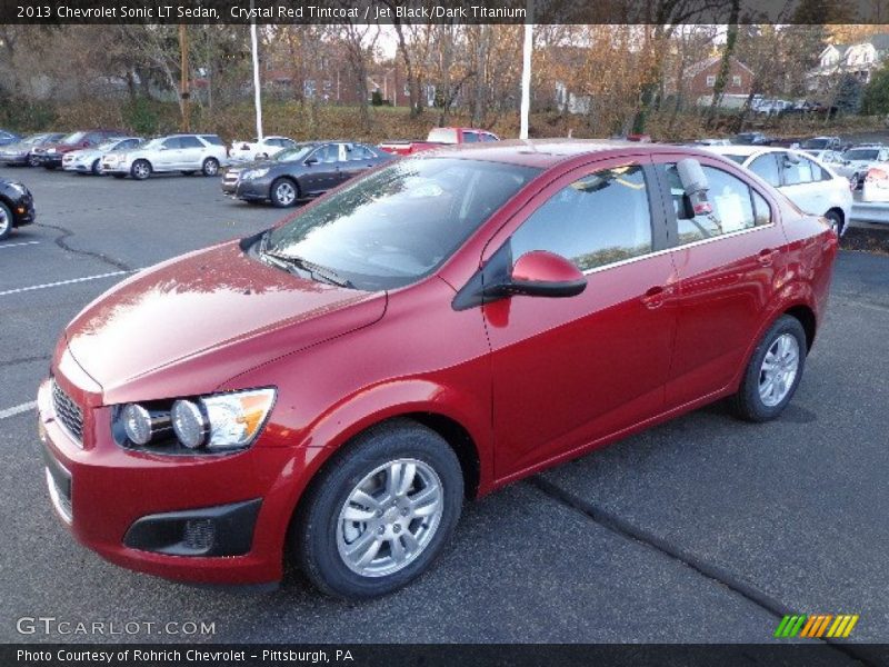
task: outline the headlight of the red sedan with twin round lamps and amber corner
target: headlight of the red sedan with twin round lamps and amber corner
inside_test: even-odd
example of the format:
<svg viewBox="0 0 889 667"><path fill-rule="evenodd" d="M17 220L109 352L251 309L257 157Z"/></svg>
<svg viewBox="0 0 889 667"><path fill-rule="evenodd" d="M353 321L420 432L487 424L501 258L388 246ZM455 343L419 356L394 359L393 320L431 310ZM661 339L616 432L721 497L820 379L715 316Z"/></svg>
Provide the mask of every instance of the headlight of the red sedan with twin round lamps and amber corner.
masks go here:
<svg viewBox="0 0 889 667"><path fill-rule="evenodd" d="M157 454L246 449L262 430L274 396L274 389L251 389L128 404L116 411L112 430L120 445Z"/></svg>

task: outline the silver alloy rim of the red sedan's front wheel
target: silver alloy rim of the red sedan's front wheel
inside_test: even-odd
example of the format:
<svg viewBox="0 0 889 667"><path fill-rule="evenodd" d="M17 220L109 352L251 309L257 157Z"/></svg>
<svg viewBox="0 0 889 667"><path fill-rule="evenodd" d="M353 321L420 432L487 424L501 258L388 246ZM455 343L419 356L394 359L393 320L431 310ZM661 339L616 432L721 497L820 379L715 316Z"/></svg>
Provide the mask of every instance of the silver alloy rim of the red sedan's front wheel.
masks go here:
<svg viewBox="0 0 889 667"><path fill-rule="evenodd" d="M363 577L397 573L423 552L444 509L439 476L428 464L398 459L352 489L337 519L343 564Z"/></svg>

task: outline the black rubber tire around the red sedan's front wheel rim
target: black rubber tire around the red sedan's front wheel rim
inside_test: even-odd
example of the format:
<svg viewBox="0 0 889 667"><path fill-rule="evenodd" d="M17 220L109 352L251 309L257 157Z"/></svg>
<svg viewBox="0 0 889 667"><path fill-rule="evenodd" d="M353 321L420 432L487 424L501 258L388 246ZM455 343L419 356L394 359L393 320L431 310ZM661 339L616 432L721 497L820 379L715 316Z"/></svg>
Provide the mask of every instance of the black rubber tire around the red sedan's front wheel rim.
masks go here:
<svg viewBox="0 0 889 667"><path fill-rule="evenodd" d="M340 511L368 474L404 458L421 461L438 475L442 489L438 527L426 547L402 569L383 576L362 576L340 556L337 538ZM462 471L448 442L433 430L408 419L386 422L344 446L312 481L294 517L291 546L303 574L324 594L344 599L387 595L429 569L453 534L462 501Z"/></svg>

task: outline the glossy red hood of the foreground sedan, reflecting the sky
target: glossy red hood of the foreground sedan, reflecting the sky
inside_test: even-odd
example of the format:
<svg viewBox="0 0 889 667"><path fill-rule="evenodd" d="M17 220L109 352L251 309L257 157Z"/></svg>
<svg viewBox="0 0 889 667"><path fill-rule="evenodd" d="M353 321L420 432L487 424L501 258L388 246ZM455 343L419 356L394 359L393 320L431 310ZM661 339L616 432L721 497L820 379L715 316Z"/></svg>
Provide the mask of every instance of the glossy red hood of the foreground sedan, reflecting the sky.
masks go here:
<svg viewBox="0 0 889 667"><path fill-rule="evenodd" d="M294 277L237 241L143 270L87 306L68 349L107 404L214 390L261 364L379 320L386 292Z"/></svg>

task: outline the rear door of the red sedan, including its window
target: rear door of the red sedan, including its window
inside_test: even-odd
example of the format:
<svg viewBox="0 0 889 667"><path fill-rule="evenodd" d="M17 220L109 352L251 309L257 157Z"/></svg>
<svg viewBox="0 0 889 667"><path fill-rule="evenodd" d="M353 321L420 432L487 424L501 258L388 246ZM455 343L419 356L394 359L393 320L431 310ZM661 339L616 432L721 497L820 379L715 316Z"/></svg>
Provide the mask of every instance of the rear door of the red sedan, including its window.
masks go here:
<svg viewBox="0 0 889 667"><path fill-rule="evenodd" d="M669 188L671 252L679 283L667 409L725 389L737 376L783 272L787 243L773 205L719 160L700 158L712 212L687 218L676 161L656 158Z"/></svg>

